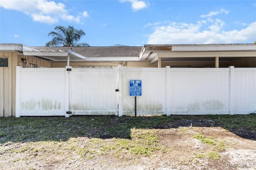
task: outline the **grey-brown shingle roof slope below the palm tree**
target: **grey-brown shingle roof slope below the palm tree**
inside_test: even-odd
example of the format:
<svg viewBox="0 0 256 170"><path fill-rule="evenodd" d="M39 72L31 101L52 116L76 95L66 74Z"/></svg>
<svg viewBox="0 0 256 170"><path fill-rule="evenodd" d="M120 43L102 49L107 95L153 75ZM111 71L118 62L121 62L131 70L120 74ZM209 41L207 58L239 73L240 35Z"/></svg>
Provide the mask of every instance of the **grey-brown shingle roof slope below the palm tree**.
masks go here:
<svg viewBox="0 0 256 170"><path fill-rule="evenodd" d="M121 46L121 47L34 47L41 51L59 52L72 49L75 53L84 57L138 57L142 46Z"/></svg>

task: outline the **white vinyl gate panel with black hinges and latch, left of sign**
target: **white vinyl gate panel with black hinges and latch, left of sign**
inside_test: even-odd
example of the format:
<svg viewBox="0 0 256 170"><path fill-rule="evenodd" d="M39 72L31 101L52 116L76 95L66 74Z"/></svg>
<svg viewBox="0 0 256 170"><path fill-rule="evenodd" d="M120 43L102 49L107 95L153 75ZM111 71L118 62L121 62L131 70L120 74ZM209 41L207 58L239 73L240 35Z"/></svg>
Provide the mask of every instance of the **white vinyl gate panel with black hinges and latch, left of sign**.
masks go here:
<svg viewBox="0 0 256 170"><path fill-rule="evenodd" d="M72 115L117 115L117 68L73 68L70 72Z"/></svg>

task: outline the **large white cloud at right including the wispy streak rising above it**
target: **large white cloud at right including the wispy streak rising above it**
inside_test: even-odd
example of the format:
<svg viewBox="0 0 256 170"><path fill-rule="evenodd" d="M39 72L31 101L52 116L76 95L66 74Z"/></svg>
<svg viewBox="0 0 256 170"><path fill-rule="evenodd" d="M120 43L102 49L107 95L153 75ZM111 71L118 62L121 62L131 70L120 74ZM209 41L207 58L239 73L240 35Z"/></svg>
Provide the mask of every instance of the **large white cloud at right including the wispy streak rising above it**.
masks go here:
<svg viewBox="0 0 256 170"><path fill-rule="evenodd" d="M197 43L248 43L256 39L256 22L243 25L241 30L224 30L226 23L219 18L212 18L218 14L228 14L227 10L219 10L203 15L207 20L194 23L157 22L144 27L152 27L152 34L148 35L147 44L197 44ZM202 17L202 16L201 16ZM210 20L209 20L210 18Z"/></svg>

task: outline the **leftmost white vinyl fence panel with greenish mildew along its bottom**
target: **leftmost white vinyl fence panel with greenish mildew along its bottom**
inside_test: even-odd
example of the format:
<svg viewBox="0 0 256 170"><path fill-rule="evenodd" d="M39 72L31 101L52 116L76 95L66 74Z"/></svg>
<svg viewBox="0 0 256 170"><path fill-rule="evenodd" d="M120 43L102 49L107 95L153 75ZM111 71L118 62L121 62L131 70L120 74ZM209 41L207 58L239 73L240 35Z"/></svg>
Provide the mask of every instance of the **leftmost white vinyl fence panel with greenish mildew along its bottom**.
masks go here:
<svg viewBox="0 0 256 170"><path fill-rule="evenodd" d="M65 116L65 69L18 68L16 117ZM18 108L18 109L17 109Z"/></svg>

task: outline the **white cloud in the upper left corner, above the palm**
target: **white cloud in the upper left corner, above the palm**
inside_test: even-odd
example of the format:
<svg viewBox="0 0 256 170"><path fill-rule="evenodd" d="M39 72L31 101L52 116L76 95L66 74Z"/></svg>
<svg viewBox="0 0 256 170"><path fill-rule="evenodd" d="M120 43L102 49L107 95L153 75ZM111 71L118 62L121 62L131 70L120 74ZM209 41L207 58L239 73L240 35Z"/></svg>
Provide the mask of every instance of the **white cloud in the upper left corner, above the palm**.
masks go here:
<svg viewBox="0 0 256 170"><path fill-rule="evenodd" d="M23 12L33 21L46 24L55 24L59 20L81 23L89 16L86 11L77 16L71 15L63 3L50 0L1 0L0 7Z"/></svg>

